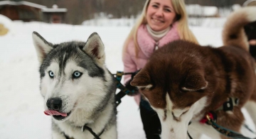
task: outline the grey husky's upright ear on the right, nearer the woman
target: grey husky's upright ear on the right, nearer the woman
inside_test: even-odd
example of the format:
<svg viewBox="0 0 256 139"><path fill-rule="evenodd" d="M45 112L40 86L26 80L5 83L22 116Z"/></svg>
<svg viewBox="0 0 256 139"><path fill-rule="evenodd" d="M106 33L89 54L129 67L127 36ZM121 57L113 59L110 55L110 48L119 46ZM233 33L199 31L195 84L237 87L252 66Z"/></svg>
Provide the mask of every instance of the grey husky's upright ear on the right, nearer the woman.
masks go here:
<svg viewBox="0 0 256 139"><path fill-rule="evenodd" d="M96 60L100 65L105 63L105 50L100 35L92 33L88 38L83 50Z"/></svg>

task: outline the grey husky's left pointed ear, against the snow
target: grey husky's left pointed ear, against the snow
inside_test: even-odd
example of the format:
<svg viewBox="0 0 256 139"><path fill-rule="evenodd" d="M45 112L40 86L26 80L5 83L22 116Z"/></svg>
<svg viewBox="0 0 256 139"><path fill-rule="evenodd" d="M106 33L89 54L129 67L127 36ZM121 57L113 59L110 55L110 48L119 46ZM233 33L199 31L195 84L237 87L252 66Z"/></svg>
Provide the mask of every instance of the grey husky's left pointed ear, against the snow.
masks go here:
<svg viewBox="0 0 256 139"><path fill-rule="evenodd" d="M36 48L36 53L38 55L38 61L43 62L44 57L53 49L53 44L48 43L39 33L34 31L32 33L33 45Z"/></svg>

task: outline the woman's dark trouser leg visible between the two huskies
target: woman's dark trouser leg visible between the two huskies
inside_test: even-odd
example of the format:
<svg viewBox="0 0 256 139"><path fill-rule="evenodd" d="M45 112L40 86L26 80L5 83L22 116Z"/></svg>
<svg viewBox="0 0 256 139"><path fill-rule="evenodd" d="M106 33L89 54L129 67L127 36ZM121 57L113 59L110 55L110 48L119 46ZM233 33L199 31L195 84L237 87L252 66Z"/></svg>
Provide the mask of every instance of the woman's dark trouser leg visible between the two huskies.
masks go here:
<svg viewBox="0 0 256 139"><path fill-rule="evenodd" d="M144 99L141 99L139 108L146 138L160 139L161 123L157 113L151 108L149 102Z"/></svg>

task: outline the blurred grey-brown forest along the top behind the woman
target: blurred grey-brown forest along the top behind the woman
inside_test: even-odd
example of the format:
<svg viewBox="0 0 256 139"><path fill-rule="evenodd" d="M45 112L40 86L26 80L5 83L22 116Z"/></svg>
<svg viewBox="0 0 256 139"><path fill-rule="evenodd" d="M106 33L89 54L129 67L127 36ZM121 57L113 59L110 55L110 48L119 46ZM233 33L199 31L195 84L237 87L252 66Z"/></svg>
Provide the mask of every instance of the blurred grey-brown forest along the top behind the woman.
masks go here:
<svg viewBox="0 0 256 139"><path fill-rule="evenodd" d="M3 0L0 0L3 1ZM20 1L20 0L14 0ZM83 21L107 16L108 18L137 18L146 0L26 0L51 8L57 4L59 8L68 9L65 22L80 25ZM201 6L217 6L229 8L233 4L242 5L245 0L185 0L186 4Z"/></svg>

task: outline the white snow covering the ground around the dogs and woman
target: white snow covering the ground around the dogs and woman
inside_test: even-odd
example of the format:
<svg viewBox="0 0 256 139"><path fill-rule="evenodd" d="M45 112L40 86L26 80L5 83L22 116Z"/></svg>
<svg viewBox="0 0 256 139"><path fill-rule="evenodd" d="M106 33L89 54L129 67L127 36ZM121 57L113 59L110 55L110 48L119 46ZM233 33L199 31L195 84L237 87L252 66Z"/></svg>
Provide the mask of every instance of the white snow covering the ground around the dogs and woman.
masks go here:
<svg viewBox="0 0 256 139"><path fill-rule="evenodd" d="M39 73L32 32L37 31L51 43L86 41L97 32L105 44L106 65L110 72L122 71L122 45L131 26L72 26L41 22L9 21L0 15L0 23L9 33L0 36L0 135L2 139L50 137L50 116L43 111L39 92ZM221 27L191 27L201 45L222 45ZM131 96L124 96L117 108L118 138L145 139L139 107ZM252 121L245 113L247 123ZM254 128L252 128L254 129ZM245 134L249 135L249 134ZM207 138L206 136L202 137Z"/></svg>

